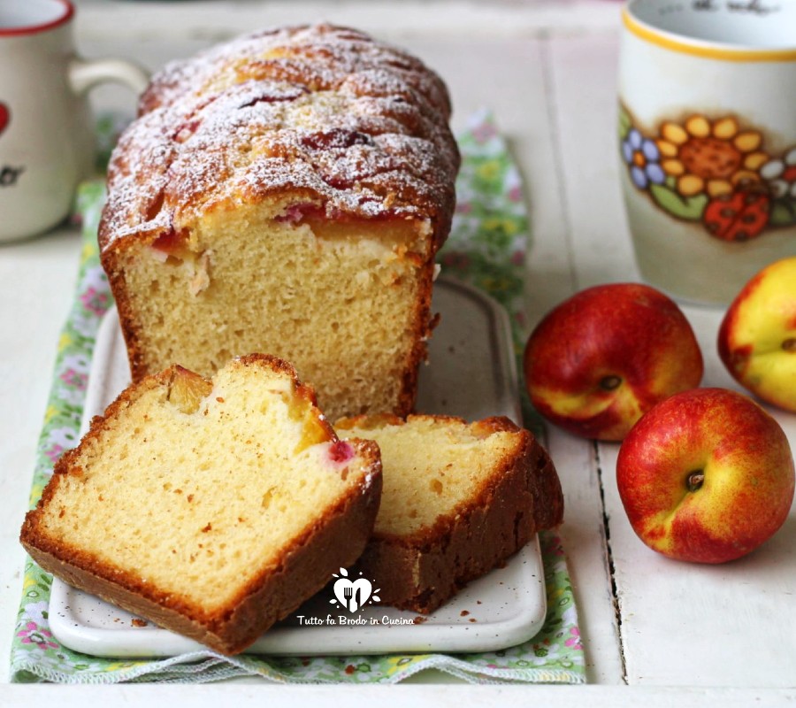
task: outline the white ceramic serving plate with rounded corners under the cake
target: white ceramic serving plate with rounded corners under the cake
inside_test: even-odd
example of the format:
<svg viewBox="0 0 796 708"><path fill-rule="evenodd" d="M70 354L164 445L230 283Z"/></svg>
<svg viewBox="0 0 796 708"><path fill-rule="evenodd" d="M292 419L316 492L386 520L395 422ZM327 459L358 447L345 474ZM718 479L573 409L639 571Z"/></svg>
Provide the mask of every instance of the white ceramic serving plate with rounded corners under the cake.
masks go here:
<svg viewBox="0 0 796 708"><path fill-rule="evenodd" d="M506 312L477 290L446 279L436 285L433 306L441 320L430 343L430 364L420 373L417 410L469 420L506 415L519 421L517 371ZM84 429L128 382L126 350L114 310L105 317L97 338ZM348 612L333 604L327 586L295 615L266 632L249 652L311 656L499 650L536 635L546 612L544 571L539 541L534 538L506 566L471 582L417 623L411 621L417 620L417 613L378 603ZM341 617L365 623L343 624ZM310 618L320 624L308 623ZM203 650L201 644L57 579L50 596L50 629L66 647L94 656L168 657Z"/></svg>

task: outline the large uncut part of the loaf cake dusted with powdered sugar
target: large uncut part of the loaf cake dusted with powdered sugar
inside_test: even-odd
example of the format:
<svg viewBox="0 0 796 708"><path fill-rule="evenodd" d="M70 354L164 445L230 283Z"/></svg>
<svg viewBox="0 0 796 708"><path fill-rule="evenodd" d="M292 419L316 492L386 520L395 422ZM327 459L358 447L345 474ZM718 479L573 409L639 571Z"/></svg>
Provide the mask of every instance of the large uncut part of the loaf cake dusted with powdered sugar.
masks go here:
<svg viewBox="0 0 796 708"><path fill-rule="evenodd" d="M440 78L327 25L167 65L111 158L99 242L134 381L290 361L330 419L409 412L459 153Z"/></svg>

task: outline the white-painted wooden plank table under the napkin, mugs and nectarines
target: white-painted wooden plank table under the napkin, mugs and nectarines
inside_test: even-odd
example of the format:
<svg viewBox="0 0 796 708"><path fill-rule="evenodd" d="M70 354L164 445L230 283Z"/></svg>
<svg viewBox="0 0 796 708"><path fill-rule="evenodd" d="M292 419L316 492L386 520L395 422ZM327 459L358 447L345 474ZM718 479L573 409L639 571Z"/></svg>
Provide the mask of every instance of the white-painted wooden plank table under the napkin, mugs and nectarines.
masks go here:
<svg viewBox="0 0 796 708"><path fill-rule="evenodd" d="M21 2L21 0L20 0ZM638 280L619 190L615 68L620 4L503 2L123 2L78 0L77 38L90 57L134 58L155 69L228 36L269 24L325 19L414 51L448 82L455 127L494 111L526 180L532 214L527 301L532 321L565 296ZM131 111L123 89L100 107ZM68 227L0 247L0 681L24 554L27 509L57 335L73 295L79 237ZM735 388L716 357L722 312L685 307L707 362L705 385ZM796 416L774 413L796 448ZM588 686L466 687L440 676L394 687L66 688L0 684L0 704L419 705L670 704L747 706L796 701L796 512L761 550L719 567L671 562L633 535L616 491L618 445L549 429L561 475L561 529L586 646Z"/></svg>

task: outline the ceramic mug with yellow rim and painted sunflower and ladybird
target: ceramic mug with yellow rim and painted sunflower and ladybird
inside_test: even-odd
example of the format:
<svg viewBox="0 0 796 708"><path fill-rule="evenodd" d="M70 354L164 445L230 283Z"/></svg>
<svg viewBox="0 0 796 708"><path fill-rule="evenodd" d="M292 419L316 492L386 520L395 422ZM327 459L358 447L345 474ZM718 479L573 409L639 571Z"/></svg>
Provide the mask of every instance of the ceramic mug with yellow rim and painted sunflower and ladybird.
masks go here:
<svg viewBox="0 0 796 708"><path fill-rule="evenodd" d="M619 153L652 285L727 304L796 255L796 2L630 0Z"/></svg>

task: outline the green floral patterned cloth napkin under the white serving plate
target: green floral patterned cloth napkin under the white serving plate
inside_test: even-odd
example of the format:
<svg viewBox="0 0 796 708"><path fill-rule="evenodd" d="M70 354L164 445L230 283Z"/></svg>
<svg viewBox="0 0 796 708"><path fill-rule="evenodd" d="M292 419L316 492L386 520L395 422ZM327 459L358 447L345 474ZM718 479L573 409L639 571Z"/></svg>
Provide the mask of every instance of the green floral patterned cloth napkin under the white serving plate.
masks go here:
<svg viewBox="0 0 796 708"><path fill-rule="evenodd" d="M102 124L101 124L102 125ZM106 123L105 125L110 125ZM460 135L463 168L452 234L440 253L443 270L483 289L512 315L517 356L526 332L523 319L524 251L528 221L522 184L505 142L486 113ZM61 453L78 441L78 430L96 332L112 298L99 265L96 227L103 203L101 182L80 190L78 214L83 249L77 293L58 342L50 401L38 447L30 504L34 505ZM532 411L524 399L527 424ZM97 658L57 642L50 633L50 583L27 559L19 620L11 646L11 680L64 683L119 681L200 682L261 676L284 683L395 683L435 668L474 683L527 681L582 683L584 652L561 541L541 535L547 619L539 635L506 650L472 654L394 656L224 657L211 650L151 660Z"/></svg>

